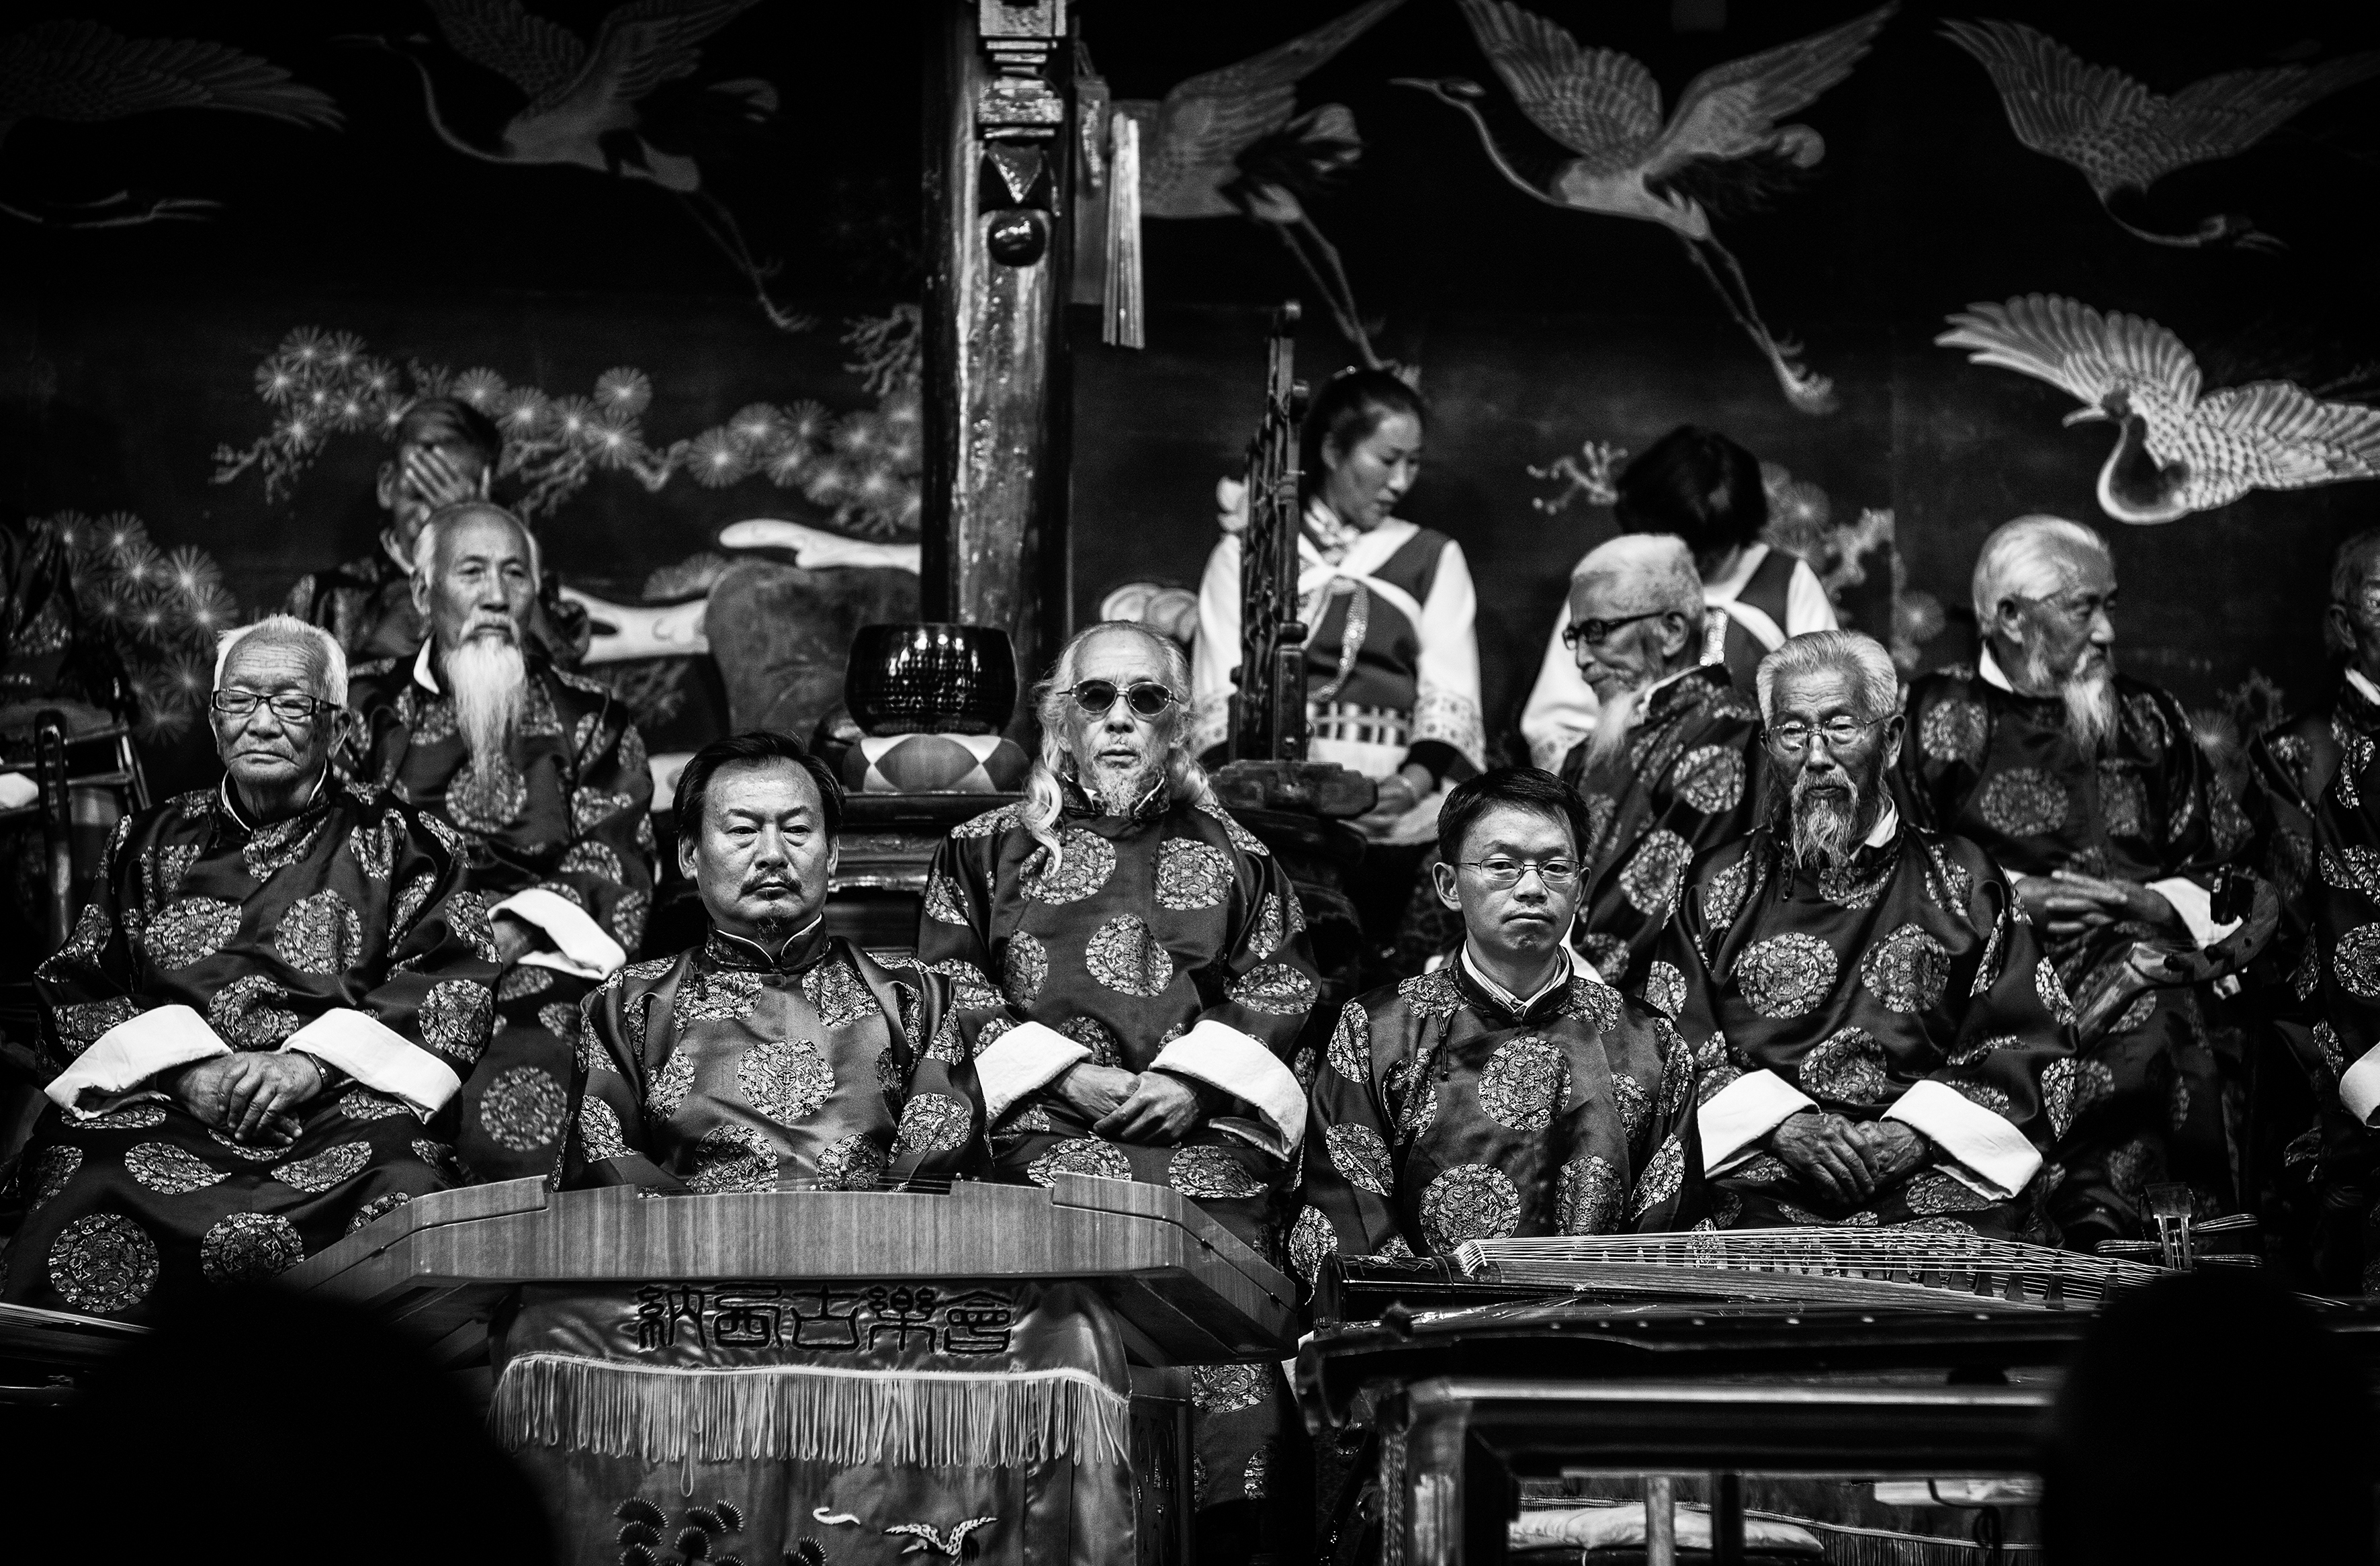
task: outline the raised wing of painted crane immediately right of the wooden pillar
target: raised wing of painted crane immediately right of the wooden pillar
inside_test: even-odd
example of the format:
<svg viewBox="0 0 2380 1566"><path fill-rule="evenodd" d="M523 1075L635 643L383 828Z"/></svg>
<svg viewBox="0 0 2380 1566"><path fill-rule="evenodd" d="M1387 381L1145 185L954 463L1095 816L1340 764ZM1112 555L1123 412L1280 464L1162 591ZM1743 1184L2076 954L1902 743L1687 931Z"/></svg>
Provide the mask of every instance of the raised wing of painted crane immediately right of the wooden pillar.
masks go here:
<svg viewBox="0 0 2380 1566"><path fill-rule="evenodd" d="M1142 174L1152 217L1233 212L1216 188L1233 162L1297 114L1297 83L1354 43L1404 0L1368 0L1261 55L1173 83L1157 107L1157 136Z"/></svg>

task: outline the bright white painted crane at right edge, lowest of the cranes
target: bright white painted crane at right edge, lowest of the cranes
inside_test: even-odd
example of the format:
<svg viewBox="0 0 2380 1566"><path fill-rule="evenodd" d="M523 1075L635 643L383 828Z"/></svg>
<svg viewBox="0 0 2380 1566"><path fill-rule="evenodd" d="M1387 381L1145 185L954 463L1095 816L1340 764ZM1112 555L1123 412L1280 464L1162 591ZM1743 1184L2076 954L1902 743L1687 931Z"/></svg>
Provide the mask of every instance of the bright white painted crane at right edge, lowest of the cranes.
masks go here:
<svg viewBox="0 0 2380 1566"><path fill-rule="evenodd" d="M2380 478L2380 409L2323 402L2290 381L2202 393L2199 362L2144 317L2033 293L1968 305L1949 326L1940 347L1966 347L1973 364L2049 381L2080 402L2066 424L2116 426L2097 486L2099 509L2116 521L2173 521L2249 490Z"/></svg>

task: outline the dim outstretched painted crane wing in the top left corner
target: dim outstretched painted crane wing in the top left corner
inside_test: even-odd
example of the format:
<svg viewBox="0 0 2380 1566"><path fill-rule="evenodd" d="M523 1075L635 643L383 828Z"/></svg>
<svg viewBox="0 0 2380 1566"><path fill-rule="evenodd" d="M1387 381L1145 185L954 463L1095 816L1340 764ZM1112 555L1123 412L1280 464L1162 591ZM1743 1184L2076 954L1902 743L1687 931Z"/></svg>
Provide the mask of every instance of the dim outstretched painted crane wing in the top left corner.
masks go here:
<svg viewBox="0 0 2380 1566"><path fill-rule="evenodd" d="M0 133L17 119L90 124L155 109L238 109L336 129L328 93L269 59L202 38L126 38L98 21L43 21L0 40Z"/></svg>

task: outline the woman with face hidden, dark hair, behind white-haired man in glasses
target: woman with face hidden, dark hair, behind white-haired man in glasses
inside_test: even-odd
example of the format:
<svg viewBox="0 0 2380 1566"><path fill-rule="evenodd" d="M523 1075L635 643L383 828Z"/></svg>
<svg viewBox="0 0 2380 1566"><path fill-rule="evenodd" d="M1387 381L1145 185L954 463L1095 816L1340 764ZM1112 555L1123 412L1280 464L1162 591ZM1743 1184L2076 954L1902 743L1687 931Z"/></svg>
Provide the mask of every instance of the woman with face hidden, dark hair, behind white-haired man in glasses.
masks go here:
<svg viewBox="0 0 2380 1566"><path fill-rule="evenodd" d="M1833 631L1835 605L1809 562L1761 543L1768 490L1759 457L1726 436L1680 424L1635 457L1618 478L1611 514L1621 533L1676 533L1702 574L1702 662L1726 664L1740 693L1787 635ZM1585 562L1580 562L1585 564ZM1571 745L1595 733L1595 693L1561 643L1554 619L1545 664L1521 709L1521 738L1537 766L1557 769Z"/></svg>

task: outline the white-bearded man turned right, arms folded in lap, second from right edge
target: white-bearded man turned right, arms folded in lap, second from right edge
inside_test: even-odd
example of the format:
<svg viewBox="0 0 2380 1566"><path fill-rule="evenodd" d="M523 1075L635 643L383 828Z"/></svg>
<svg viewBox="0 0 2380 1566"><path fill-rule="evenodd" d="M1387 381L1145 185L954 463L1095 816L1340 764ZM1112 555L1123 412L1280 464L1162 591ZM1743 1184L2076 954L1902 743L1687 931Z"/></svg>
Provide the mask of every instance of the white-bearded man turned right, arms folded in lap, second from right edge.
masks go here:
<svg viewBox="0 0 2380 1566"><path fill-rule="evenodd" d="M1911 812L2006 869L2080 1009L2073 1128L2049 1216L2082 1249L2137 1238L2144 1188L2187 1183L2199 1216L2237 1204L2240 1064L2218 1057L2209 971L2232 923L2223 869L2251 828L2171 693L2116 671L2116 566L2061 516L2018 516L1975 557L1973 669L1911 683ZM2230 952L2230 947L2225 947Z"/></svg>

